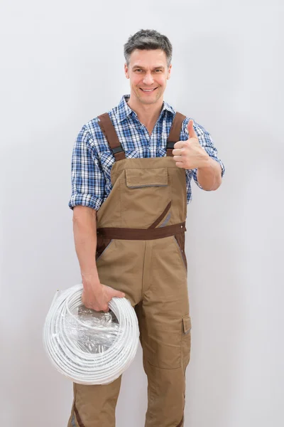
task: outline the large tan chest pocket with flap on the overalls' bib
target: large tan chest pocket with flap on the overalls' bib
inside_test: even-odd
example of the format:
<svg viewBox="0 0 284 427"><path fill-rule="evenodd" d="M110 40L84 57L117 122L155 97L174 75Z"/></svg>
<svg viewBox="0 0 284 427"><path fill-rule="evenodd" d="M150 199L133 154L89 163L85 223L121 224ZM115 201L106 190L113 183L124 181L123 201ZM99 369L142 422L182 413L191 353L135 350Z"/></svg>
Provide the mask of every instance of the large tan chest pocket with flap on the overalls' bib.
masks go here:
<svg viewBox="0 0 284 427"><path fill-rule="evenodd" d="M168 169L125 169L120 182L122 227L148 228L171 200Z"/></svg>

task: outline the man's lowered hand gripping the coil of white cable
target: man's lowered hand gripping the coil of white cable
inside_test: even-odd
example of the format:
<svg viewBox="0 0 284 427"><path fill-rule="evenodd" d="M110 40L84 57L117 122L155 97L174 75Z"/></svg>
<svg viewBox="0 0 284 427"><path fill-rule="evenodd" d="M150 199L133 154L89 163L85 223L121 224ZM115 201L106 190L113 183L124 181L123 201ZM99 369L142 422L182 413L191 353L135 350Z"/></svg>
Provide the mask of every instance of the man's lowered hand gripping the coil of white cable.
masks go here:
<svg viewBox="0 0 284 427"><path fill-rule="evenodd" d="M95 311L109 311L109 301L112 297L125 297L124 292L110 288L107 285L100 283L96 287L92 285L84 285L82 292L82 302L85 307Z"/></svg>

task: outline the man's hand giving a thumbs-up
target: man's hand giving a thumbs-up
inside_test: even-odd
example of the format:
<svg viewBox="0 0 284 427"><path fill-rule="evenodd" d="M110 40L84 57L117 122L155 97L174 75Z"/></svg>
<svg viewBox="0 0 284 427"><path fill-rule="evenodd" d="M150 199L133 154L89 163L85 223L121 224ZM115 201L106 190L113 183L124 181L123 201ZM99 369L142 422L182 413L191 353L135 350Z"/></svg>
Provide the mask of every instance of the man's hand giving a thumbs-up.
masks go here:
<svg viewBox="0 0 284 427"><path fill-rule="evenodd" d="M198 142L198 137L193 129L193 120L188 122L187 129L189 139L175 142L174 145L173 159L176 166L183 169L208 167L210 157Z"/></svg>

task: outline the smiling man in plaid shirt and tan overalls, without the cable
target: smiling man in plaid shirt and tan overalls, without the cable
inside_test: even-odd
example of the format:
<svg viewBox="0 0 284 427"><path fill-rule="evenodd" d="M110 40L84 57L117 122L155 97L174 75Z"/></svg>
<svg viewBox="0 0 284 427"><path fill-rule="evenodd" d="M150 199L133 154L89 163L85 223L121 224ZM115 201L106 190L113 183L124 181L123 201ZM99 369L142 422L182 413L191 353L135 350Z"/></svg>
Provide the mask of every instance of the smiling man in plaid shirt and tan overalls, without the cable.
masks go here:
<svg viewBox="0 0 284 427"><path fill-rule="evenodd" d="M172 69L168 38L138 31L124 55L130 96L84 125L73 151L70 208L82 300L105 312L112 297L131 301L148 376L146 427L182 427L190 361L190 180L216 190L224 166L209 133L163 101ZM74 384L68 427L114 427L120 384L121 378Z"/></svg>

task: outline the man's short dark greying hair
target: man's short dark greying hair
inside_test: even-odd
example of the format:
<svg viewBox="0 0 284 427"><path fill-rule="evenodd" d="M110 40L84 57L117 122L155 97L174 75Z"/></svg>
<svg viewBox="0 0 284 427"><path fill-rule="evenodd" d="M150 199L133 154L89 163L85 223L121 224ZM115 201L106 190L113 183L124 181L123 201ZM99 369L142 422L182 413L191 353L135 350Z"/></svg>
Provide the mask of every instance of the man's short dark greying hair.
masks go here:
<svg viewBox="0 0 284 427"><path fill-rule="evenodd" d="M135 33L134 36L129 37L128 41L124 45L124 57L127 65L129 65L131 53L135 51L135 49L141 49L142 51L161 49L165 52L165 56L167 57L168 67L170 66L173 55L173 46L168 37L163 36L163 34L158 33L158 31L140 30Z"/></svg>

